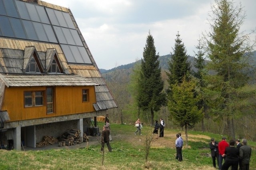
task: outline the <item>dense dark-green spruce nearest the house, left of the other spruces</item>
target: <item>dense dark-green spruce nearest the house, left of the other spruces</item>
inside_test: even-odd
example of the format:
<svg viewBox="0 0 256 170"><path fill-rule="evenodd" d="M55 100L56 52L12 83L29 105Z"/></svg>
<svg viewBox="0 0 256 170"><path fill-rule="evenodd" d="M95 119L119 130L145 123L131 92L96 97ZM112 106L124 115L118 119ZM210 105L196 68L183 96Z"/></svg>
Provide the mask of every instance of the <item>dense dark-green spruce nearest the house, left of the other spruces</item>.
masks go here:
<svg viewBox="0 0 256 170"><path fill-rule="evenodd" d="M159 111L160 107L166 104L166 95L163 92L164 81L162 80L158 57L159 54L156 54L154 38L149 32L141 61L137 99L139 108L144 111L150 110L151 125L154 123L154 111Z"/></svg>

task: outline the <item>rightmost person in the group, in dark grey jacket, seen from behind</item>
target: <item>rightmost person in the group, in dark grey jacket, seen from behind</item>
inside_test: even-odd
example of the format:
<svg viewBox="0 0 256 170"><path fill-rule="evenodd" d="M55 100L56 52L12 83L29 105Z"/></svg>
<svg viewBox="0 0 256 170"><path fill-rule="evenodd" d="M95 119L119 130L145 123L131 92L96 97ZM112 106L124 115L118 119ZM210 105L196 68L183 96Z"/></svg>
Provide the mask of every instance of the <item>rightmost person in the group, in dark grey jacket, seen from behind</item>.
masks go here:
<svg viewBox="0 0 256 170"><path fill-rule="evenodd" d="M239 149L239 159L241 164L241 170L249 170L250 158L252 154L252 148L247 145L247 140L242 139L242 146Z"/></svg>

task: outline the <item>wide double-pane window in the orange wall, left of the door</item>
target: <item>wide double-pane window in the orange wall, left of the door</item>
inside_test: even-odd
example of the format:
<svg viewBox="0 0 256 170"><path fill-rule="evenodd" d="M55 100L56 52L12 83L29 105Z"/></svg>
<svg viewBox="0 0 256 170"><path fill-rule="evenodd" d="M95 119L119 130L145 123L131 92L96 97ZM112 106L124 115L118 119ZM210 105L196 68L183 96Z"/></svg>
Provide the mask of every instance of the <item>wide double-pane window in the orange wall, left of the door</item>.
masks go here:
<svg viewBox="0 0 256 170"><path fill-rule="evenodd" d="M26 91L24 92L24 106L34 107L44 105L43 91Z"/></svg>

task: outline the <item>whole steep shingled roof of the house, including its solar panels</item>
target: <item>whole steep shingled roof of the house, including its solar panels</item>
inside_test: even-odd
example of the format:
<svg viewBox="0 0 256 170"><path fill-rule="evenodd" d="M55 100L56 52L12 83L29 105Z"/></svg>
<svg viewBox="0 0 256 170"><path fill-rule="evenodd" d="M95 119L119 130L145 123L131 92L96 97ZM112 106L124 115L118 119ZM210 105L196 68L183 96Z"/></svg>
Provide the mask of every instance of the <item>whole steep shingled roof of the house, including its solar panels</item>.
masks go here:
<svg viewBox="0 0 256 170"><path fill-rule="evenodd" d="M60 81L55 82L56 85L96 85L96 111L117 107L70 9L40 0L28 1L0 0L1 81L7 87L40 83L52 85L53 80ZM24 70L31 57L36 58L44 74L57 57L63 74L35 74L30 75L30 79L26 78L28 74ZM44 81L38 77L43 77ZM26 83L21 84L20 81Z"/></svg>

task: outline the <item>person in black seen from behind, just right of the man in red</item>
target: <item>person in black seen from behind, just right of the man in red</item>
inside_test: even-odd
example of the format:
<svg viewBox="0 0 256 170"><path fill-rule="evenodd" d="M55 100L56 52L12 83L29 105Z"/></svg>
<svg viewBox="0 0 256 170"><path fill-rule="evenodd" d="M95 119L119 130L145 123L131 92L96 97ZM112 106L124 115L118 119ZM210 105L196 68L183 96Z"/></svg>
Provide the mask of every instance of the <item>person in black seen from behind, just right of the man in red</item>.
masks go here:
<svg viewBox="0 0 256 170"><path fill-rule="evenodd" d="M234 147L235 140L231 139L229 141L228 147L226 147L223 157L226 157L224 164L222 165L222 170L228 170L228 168L231 166L231 170L237 170L238 169L238 155L239 150L238 148Z"/></svg>

